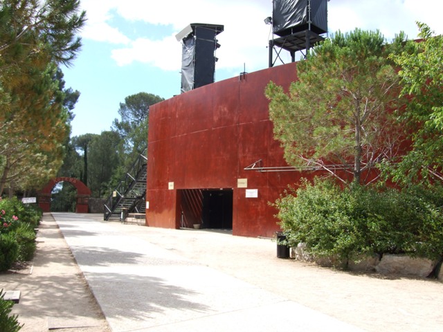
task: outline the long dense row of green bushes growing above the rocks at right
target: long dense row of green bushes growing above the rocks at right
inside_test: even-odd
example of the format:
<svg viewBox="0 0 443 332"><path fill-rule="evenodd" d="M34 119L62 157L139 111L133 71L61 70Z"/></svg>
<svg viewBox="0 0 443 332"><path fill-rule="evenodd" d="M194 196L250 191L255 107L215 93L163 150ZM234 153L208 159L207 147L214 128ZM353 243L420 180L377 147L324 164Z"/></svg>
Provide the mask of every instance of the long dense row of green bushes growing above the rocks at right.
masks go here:
<svg viewBox="0 0 443 332"><path fill-rule="evenodd" d="M441 187L408 190L341 188L332 181L305 181L275 202L289 246L305 243L316 257L350 261L375 253L443 255Z"/></svg>

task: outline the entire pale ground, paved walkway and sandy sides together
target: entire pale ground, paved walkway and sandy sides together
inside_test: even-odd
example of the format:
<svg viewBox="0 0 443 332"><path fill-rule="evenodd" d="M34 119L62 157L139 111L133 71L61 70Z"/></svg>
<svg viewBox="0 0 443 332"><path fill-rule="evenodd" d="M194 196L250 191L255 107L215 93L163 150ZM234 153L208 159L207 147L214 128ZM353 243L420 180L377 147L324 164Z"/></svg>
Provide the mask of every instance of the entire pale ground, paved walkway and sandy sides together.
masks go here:
<svg viewBox="0 0 443 332"><path fill-rule="evenodd" d="M33 274L0 275L22 291L24 332L443 331L441 282L278 259L269 239L53 216L66 242L45 221Z"/></svg>

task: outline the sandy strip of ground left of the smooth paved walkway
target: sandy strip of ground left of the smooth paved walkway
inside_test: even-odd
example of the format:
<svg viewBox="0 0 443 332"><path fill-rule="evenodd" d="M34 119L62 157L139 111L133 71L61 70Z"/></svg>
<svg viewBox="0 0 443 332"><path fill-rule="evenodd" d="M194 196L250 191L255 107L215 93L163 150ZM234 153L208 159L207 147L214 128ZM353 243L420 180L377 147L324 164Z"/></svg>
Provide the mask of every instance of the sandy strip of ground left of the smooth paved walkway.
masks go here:
<svg viewBox="0 0 443 332"><path fill-rule="evenodd" d="M13 313L21 332L111 331L51 214L37 232L33 262L15 273L0 274L0 289L21 292Z"/></svg>

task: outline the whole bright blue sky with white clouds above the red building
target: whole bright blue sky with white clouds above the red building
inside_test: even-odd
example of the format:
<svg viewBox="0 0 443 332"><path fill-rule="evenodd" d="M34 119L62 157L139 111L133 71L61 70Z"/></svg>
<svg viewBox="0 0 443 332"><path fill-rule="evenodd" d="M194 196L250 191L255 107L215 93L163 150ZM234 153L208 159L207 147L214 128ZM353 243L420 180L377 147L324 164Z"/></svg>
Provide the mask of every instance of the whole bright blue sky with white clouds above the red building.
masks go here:
<svg viewBox="0 0 443 332"><path fill-rule="evenodd" d="M71 136L109 130L120 102L139 92L165 99L180 93L181 44L175 35L190 23L223 24L215 80L268 66L271 0L81 0L87 11L83 47L69 68L66 87L80 91ZM442 0L330 0L329 33L362 28L388 39L415 21L443 34ZM284 59L289 62L289 57Z"/></svg>

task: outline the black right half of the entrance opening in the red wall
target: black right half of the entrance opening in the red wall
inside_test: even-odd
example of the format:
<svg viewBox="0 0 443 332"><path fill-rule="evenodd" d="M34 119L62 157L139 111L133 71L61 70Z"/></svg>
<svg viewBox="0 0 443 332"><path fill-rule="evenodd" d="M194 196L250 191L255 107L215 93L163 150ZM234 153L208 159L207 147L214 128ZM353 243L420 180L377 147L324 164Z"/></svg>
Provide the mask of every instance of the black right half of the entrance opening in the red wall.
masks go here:
<svg viewBox="0 0 443 332"><path fill-rule="evenodd" d="M233 190L203 190L204 228L232 230Z"/></svg>

